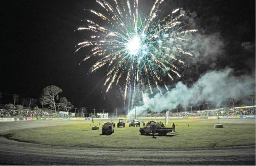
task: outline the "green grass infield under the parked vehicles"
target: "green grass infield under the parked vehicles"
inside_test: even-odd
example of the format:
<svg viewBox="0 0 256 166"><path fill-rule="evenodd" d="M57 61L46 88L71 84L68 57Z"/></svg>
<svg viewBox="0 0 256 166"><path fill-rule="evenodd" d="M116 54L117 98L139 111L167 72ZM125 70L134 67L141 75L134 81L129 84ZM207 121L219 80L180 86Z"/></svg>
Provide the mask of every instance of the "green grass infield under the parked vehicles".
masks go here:
<svg viewBox="0 0 256 166"><path fill-rule="evenodd" d="M175 122L178 123L175 129L178 132L168 133L167 136L156 134L156 138L142 136L139 127L128 127L128 124L125 128L115 128L111 135L101 135L102 125L100 130L91 130L92 124L83 122L14 130L11 131L9 138L46 145L98 148L202 148L255 145L255 119L254 122L243 122L239 124L223 121L223 128L214 128L216 122L212 120L183 120ZM168 126L171 126L171 122Z"/></svg>

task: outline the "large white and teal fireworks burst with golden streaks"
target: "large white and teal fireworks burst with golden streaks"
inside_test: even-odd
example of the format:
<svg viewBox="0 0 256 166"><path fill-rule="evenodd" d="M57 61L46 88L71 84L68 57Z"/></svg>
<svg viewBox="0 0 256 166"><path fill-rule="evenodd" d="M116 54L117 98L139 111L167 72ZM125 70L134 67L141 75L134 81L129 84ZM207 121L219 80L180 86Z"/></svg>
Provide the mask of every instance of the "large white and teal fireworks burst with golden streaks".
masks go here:
<svg viewBox="0 0 256 166"><path fill-rule="evenodd" d="M92 46L84 61L94 56L100 58L89 73L108 65L104 82L106 92L125 76L125 98L128 85L132 85L133 91L140 85L142 94L146 89L153 93L153 86L161 94L159 86L163 85L168 91L163 78L174 81L176 77L181 77L178 66L184 64L184 56L193 56L183 46L192 42L188 34L197 30L187 29L185 11L175 9L164 18L158 18L159 6L164 0L156 0L148 16L142 19L138 13L138 0L132 3L131 0L114 0L113 6L105 0L96 2L106 14L92 9L90 12L104 20L107 26L86 20L88 24L77 29L89 30L93 35L90 40L79 43L76 52Z"/></svg>

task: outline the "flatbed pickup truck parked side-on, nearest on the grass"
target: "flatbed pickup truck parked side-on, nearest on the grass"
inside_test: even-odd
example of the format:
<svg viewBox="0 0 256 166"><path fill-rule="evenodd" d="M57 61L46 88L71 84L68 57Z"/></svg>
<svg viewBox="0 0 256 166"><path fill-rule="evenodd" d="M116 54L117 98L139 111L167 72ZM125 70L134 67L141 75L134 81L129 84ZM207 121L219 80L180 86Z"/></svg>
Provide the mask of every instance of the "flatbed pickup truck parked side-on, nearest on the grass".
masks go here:
<svg viewBox="0 0 256 166"><path fill-rule="evenodd" d="M172 127L161 127L161 124L158 123L151 123L147 125L146 127L140 128L140 134L141 135L149 135L149 133L152 133L151 127L154 127L154 133L158 133L159 136L165 136L168 132L172 132Z"/></svg>

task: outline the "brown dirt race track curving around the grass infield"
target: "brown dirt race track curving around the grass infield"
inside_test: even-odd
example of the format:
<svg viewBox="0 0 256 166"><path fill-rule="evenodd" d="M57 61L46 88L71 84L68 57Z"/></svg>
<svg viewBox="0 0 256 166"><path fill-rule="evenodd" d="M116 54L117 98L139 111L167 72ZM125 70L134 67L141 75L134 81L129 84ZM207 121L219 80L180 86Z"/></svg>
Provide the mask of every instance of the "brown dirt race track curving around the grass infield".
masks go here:
<svg viewBox="0 0 256 166"><path fill-rule="evenodd" d="M1 122L10 130L76 124L83 121ZM75 141L75 140L74 140ZM3 165L255 165L255 146L175 150L102 149L39 145L0 137Z"/></svg>

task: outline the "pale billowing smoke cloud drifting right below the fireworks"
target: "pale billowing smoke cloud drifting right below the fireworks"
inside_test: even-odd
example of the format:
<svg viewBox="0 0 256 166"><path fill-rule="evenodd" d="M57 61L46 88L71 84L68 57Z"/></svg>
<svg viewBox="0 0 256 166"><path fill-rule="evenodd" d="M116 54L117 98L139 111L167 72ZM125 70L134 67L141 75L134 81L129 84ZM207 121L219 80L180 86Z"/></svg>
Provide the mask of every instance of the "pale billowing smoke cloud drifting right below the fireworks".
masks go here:
<svg viewBox="0 0 256 166"><path fill-rule="evenodd" d="M173 109L178 105L200 104L207 102L222 102L230 98L244 98L255 94L255 75L234 76L233 69L226 68L219 71L208 71L202 75L190 88L178 82L175 88L149 97L144 94L144 104L136 106L136 113L144 113L147 109L161 112ZM128 115L134 114L134 108Z"/></svg>

